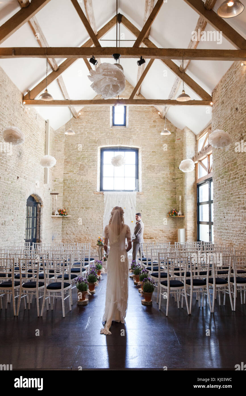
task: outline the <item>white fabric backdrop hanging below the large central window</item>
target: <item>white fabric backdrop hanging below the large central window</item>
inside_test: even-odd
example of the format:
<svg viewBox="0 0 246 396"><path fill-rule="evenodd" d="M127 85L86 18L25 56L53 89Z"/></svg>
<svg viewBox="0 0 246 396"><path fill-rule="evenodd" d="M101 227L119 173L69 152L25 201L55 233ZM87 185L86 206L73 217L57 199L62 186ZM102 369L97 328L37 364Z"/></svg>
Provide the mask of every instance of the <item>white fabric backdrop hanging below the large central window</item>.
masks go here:
<svg viewBox="0 0 246 396"><path fill-rule="evenodd" d="M121 206L124 210L125 224L129 225L131 235L133 235L136 220L136 192L129 191L104 191L104 213L103 213L103 231L107 224L109 224L111 210L115 206ZM131 255L132 249L129 251Z"/></svg>

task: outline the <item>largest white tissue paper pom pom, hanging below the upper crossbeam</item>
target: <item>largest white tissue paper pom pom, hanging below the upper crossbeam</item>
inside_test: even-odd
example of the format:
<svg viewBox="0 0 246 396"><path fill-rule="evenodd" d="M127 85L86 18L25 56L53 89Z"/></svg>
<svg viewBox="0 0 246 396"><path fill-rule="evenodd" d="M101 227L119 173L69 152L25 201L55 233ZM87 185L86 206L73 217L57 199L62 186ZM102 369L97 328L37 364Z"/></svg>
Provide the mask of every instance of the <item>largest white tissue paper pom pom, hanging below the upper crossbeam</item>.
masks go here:
<svg viewBox="0 0 246 396"><path fill-rule="evenodd" d="M96 70L90 70L91 88L103 99L111 99L119 95L125 88L125 76L117 66L101 63Z"/></svg>

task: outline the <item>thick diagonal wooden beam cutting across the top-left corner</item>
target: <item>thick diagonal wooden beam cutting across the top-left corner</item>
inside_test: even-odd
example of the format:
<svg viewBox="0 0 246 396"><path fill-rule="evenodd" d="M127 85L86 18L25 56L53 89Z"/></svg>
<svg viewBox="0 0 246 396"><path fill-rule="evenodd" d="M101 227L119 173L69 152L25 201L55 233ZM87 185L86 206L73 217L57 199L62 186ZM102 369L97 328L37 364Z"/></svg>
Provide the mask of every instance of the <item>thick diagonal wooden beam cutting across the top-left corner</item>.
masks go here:
<svg viewBox="0 0 246 396"><path fill-rule="evenodd" d="M13 17L0 26L0 44L2 44L8 37L16 30L24 25L30 18L32 18L38 11L40 11L51 0L35 0L29 6L21 8Z"/></svg>

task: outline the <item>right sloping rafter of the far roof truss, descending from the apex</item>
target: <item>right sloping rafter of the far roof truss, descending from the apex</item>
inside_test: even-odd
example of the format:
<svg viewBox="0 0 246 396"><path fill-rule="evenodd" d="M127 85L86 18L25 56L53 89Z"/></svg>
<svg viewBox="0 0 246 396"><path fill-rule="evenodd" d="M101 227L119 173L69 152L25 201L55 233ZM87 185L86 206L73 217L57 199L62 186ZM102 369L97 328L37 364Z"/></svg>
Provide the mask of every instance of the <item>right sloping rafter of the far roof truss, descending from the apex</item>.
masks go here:
<svg viewBox="0 0 246 396"><path fill-rule="evenodd" d="M130 32L132 34L134 34L135 36L138 36L139 34L139 30L130 22L128 21L128 19L126 17L124 17L124 15L122 15L122 23L123 25L130 30ZM157 48L154 43L152 43L152 41L150 41L148 38L145 38L143 40L143 43L146 45L146 47L148 48ZM164 61L162 60L162 62L169 67L169 69L171 69L175 74L177 74L177 76L179 78L182 79L182 73L179 70L179 67L176 65L176 63L174 63L173 61ZM199 84L197 84L194 80L192 80L192 78L190 78L188 76L188 74L184 73L184 82L195 92L197 93L197 95L199 95L199 97L201 97L202 99L210 99L210 101L212 101L212 97L203 89L199 86Z"/></svg>

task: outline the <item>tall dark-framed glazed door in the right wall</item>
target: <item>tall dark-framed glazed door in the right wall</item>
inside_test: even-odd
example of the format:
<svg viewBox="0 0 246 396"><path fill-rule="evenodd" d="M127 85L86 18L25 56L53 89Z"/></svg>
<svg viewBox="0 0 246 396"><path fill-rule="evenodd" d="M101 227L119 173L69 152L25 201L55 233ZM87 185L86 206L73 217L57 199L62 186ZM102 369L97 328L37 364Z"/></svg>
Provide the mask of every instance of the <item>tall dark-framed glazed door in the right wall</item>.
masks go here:
<svg viewBox="0 0 246 396"><path fill-rule="evenodd" d="M197 185L197 240L214 242L213 181Z"/></svg>

